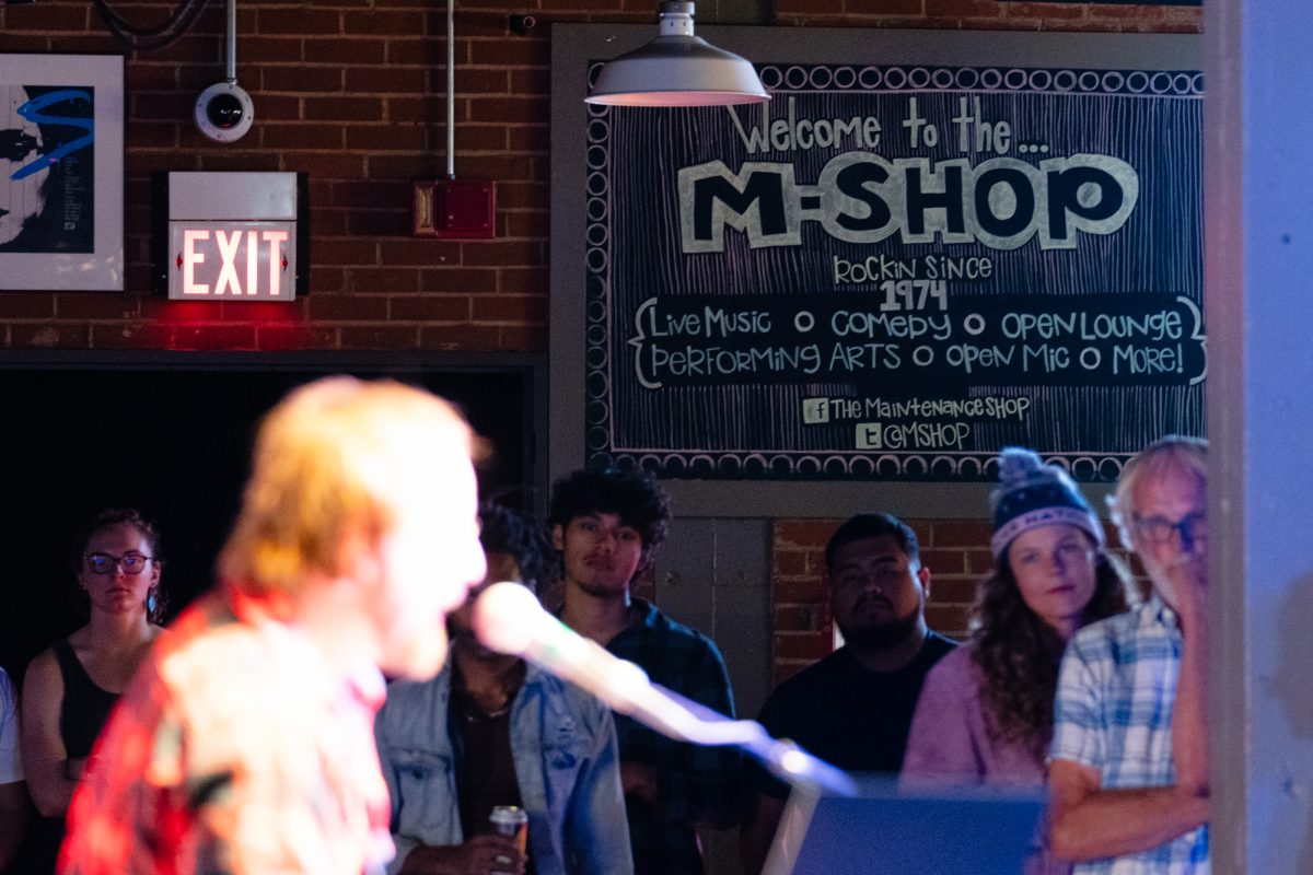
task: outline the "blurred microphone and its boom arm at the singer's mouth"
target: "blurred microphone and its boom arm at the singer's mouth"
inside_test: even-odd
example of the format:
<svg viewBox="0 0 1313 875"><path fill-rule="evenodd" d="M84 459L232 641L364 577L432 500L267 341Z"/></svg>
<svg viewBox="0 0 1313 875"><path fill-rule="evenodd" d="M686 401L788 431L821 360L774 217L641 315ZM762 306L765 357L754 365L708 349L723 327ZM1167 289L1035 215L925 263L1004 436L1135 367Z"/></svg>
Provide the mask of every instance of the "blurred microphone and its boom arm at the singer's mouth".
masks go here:
<svg viewBox="0 0 1313 875"><path fill-rule="evenodd" d="M608 707L678 741L737 745L783 781L810 791L851 796L856 782L788 740L775 740L755 720L731 720L653 683L641 668L572 631L542 610L527 586L492 584L474 601L474 635L483 647L517 656L583 687Z"/></svg>

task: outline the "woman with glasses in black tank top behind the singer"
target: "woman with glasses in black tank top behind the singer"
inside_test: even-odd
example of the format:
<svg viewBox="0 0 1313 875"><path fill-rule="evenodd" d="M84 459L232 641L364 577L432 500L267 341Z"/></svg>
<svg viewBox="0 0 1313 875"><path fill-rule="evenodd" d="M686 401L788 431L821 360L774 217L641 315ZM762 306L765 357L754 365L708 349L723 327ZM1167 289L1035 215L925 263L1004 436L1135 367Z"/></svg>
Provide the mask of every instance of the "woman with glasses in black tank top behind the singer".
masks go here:
<svg viewBox="0 0 1313 875"><path fill-rule="evenodd" d="M24 770L42 815L33 872L54 871L74 787L164 614L159 535L137 510L100 513L77 544L88 623L34 659L22 683Z"/></svg>

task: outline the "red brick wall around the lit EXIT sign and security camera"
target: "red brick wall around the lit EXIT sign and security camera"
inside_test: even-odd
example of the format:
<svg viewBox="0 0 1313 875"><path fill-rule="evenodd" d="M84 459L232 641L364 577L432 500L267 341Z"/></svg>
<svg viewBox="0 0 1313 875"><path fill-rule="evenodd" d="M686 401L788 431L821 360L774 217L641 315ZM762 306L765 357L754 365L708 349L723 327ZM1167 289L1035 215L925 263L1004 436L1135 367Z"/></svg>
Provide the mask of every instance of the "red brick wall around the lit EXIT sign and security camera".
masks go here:
<svg viewBox="0 0 1313 875"><path fill-rule="evenodd" d="M154 25L172 3L114 0ZM0 294L7 348L545 352L549 28L653 21L655 0L462 0L457 174L498 181L498 239L412 240L410 184L445 172L441 0L243 3L238 79L256 123L218 146L192 104L223 75L222 4L127 62L127 294ZM1196 31L1199 9L995 0L777 0L781 26ZM540 25L515 35L508 13ZM701 20L710 21L709 14ZM0 51L121 51L87 0L0 5ZM150 294L151 171L309 171L310 298L169 304ZM0 278L3 287L3 278Z"/></svg>

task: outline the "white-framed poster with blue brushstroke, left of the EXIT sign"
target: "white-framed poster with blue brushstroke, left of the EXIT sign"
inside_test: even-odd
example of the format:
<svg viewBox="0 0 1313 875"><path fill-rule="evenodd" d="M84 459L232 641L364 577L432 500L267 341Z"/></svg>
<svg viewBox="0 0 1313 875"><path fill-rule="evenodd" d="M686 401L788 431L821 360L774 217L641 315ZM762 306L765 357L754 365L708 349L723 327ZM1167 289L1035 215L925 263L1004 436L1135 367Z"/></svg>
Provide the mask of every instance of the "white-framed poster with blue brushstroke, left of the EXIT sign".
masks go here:
<svg viewBox="0 0 1313 875"><path fill-rule="evenodd" d="M123 290L123 58L0 54L0 290Z"/></svg>

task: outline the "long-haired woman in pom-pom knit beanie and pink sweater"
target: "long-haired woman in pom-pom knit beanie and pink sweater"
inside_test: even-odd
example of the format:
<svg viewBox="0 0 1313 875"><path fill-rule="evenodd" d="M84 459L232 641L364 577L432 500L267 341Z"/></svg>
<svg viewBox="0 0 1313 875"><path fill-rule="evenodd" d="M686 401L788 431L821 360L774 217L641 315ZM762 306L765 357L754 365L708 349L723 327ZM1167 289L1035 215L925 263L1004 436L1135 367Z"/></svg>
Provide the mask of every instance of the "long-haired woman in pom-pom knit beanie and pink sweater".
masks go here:
<svg viewBox="0 0 1313 875"><path fill-rule="evenodd" d="M1124 567L1104 550L1099 518L1066 472L1019 447L1003 450L998 467L994 569L979 585L970 640L926 677L905 784L1041 786L1067 639L1136 598ZM1028 875L1070 871L1045 850L1027 867Z"/></svg>

